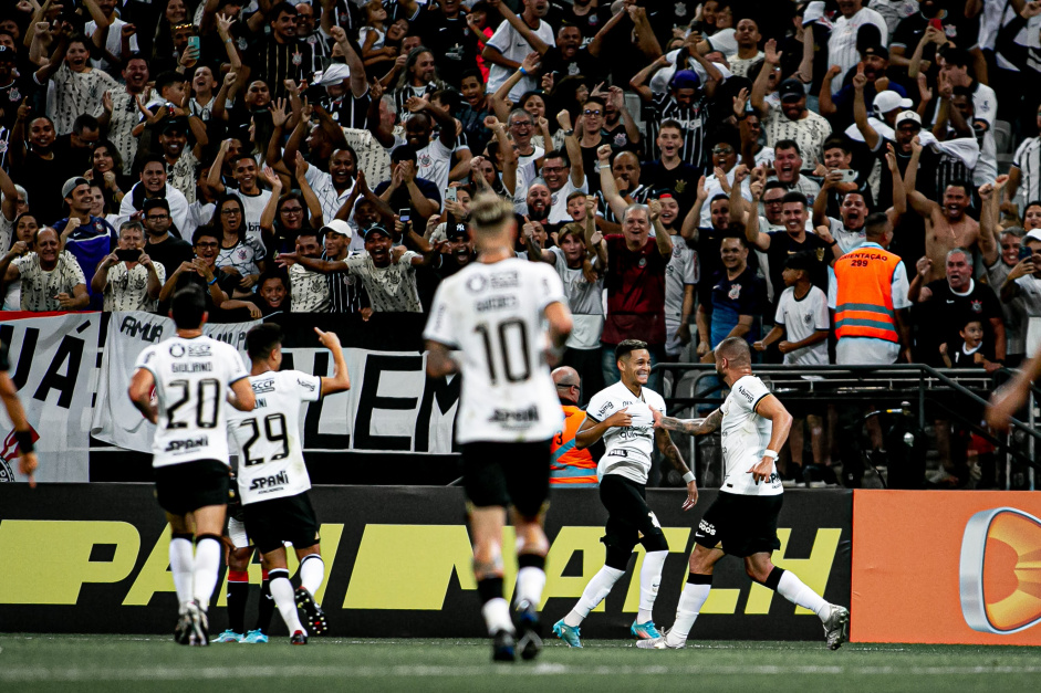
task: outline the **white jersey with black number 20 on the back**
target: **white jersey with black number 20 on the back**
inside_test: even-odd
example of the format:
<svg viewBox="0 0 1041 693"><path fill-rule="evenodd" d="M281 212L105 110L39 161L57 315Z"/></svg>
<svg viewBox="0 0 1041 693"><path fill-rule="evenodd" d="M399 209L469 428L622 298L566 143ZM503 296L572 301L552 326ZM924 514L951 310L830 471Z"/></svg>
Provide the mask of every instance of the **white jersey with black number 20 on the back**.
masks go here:
<svg viewBox="0 0 1041 693"><path fill-rule="evenodd" d="M235 347L205 336L175 336L143 350L135 368L155 378L159 421L152 466L196 460L228 464L228 387L247 377Z"/></svg>

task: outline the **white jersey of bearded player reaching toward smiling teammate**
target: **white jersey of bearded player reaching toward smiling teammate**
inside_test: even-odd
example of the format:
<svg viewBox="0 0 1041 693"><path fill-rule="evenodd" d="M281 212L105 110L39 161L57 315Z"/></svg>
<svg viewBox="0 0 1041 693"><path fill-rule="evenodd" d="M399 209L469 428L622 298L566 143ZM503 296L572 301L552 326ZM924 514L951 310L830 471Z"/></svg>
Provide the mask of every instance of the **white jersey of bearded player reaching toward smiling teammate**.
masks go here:
<svg viewBox="0 0 1041 693"><path fill-rule="evenodd" d="M762 453L770 444L773 434L773 421L756 413L759 401L770 395L770 390L756 376L743 376L727 396L722 411L722 460L727 477L722 482L725 493L740 495L778 495L784 491L777 464L770 479L759 482L752 479L748 470L762 461Z"/></svg>

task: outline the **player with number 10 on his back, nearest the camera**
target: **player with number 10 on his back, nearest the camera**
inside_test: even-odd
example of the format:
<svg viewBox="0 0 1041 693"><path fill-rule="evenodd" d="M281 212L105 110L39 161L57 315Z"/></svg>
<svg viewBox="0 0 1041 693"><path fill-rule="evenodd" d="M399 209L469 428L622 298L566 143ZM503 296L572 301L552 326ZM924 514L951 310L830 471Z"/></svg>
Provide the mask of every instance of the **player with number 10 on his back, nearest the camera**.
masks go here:
<svg viewBox="0 0 1041 693"><path fill-rule="evenodd" d="M563 423L546 361L562 354L572 318L553 267L516 256L509 201L477 196L470 238L477 261L441 282L434 296L424 332L427 374L462 376L456 439L462 445L473 574L492 659L513 661L517 650L532 659L542 649L537 609L549 550L542 521L550 439ZM511 504L517 627L502 597L502 527Z"/></svg>

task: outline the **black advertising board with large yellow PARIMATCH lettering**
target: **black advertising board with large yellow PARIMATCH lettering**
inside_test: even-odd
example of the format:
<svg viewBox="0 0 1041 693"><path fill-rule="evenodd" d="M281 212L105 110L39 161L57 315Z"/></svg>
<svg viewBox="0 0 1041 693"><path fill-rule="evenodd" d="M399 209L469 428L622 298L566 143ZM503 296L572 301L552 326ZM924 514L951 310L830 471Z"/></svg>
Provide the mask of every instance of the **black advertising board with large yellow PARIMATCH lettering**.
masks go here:
<svg viewBox="0 0 1041 693"><path fill-rule="evenodd" d="M658 622L672 622L687 575L693 528L716 496L702 491L693 512L681 490L648 490L669 542ZM332 636L480 637L462 491L456 487L317 486L327 579L320 598ZM850 599L852 494L784 494L774 561L795 571L831 601ZM562 618L604 561L606 513L596 491L552 492L546 531L552 542L543 620ZM508 529L511 532L511 529ZM512 546L507 537L506 546ZM176 620L168 528L147 484L0 484L0 630L7 632L166 633ZM639 602L639 565L583 623L587 638L628 638ZM290 566L295 571L294 563ZM506 556L509 591L516 559ZM253 564L250 578L260 581ZM211 630L226 627L225 589L215 596ZM259 590L251 591L247 624ZM284 632L278 616L275 633ZM737 558L717 568L696 638L820 640L815 616L753 584Z"/></svg>

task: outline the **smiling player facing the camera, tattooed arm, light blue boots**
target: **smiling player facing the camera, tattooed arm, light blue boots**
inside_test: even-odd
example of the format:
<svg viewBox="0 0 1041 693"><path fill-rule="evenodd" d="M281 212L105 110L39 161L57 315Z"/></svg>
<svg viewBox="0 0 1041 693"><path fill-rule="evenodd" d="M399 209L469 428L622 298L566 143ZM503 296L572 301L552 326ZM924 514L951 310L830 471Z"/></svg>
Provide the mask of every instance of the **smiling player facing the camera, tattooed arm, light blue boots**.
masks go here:
<svg viewBox="0 0 1041 693"><path fill-rule="evenodd" d="M655 447L684 475L687 484L684 510L690 510L698 502L694 472L687 469L668 431L654 428L655 412L665 413L665 400L644 387L650 376L647 343L623 340L615 347L615 359L622 379L593 396L585 421L575 434L579 449L589 448L601 438L607 447L596 466L600 500L607 508L607 526L601 539L607 547L607 557L574 608L553 624L556 637L572 648L582 647L579 626L625 575L637 544L644 545L646 554L639 570L639 610L629 630L641 639L660 634L654 626L652 611L662 568L668 557L668 542L658 518L647 506L647 474Z"/></svg>

